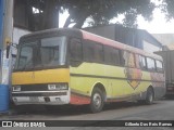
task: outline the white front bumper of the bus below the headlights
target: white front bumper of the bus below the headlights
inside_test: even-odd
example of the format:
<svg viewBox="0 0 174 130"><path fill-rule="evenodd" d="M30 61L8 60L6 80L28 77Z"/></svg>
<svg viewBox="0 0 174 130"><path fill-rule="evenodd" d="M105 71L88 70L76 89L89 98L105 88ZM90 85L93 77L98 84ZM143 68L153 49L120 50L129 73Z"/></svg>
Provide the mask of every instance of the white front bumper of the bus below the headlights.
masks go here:
<svg viewBox="0 0 174 130"><path fill-rule="evenodd" d="M23 104L63 105L70 103L70 92L69 91L12 92L12 100L15 105L23 105Z"/></svg>

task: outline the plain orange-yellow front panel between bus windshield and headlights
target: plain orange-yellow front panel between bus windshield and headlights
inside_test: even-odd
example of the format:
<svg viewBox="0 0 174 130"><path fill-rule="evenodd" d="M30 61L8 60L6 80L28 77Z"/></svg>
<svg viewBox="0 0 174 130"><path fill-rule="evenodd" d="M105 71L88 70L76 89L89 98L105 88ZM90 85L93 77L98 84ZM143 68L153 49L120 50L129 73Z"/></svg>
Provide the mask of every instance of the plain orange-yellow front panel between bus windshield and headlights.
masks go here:
<svg viewBox="0 0 174 130"><path fill-rule="evenodd" d="M70 69L57 68L35 72L17 72L12 74L12 84L37 84L52 82L70 82Z"/></svg>

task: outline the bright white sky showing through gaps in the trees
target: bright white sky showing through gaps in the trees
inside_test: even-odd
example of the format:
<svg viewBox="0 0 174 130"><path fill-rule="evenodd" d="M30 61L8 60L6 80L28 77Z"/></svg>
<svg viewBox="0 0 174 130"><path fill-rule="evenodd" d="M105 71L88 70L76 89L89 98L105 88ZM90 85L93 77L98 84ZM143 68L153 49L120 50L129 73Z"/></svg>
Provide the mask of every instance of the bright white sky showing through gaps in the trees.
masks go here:
<svg viewBox="0 0 174 130"><path fill-rule="evenodd" d="M152 1L158 4L157 0ZM60 27L63 27L67 16L67 12L60 14ZM113 18L111 23L122 22L122 20L123 15L120 15L119 18ZM151 22L147 22L142 16L138 16L137 23L139 29L146 29L150 34L174 34L174 20L166 22L165 15L162 14L159 9L153 11L153 20ZM85 26L87 26L87 24L85 24Z"/></svg>

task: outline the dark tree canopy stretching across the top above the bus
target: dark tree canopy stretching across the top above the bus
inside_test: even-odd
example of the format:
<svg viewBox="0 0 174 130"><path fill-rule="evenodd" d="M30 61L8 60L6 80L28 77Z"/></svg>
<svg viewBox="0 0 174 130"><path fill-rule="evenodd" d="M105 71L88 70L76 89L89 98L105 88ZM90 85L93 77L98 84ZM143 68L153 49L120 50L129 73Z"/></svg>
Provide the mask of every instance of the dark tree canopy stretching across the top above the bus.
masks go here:
<svg viewBox="0 0 174 130"><path fill-rule="evenodd" d="M174 0L157 1L161 1L161 4L156 5L151 0L15 0L14 14L18 16L14 22L20 23L20 15L25 12L28 18L23 17L21 23L26 22L25 25L32 30L54 28L58 27L59 12L67 11L70 16L64 27L73 23L73 27L82 28L85 22L91 26L108 25L120 14L125 16L123 26L137 27L137 16L141 15L146 21L151 21L156 8L160 8L167 20L174 17ZM35 13L33 8L39 12Z"/></svg>

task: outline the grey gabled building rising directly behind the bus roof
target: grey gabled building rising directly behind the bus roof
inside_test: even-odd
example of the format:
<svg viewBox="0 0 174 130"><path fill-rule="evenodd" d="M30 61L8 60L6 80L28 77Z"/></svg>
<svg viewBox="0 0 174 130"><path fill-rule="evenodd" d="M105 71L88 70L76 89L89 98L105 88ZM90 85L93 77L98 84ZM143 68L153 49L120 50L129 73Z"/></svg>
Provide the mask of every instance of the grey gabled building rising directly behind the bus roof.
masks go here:
<svg viewBox="0 0 174 130"><path fill-rule="evenodd" d="M146 30L127 28L121 25L87 27L84 29L150 53L162 49L162 44Z"/></svg>

